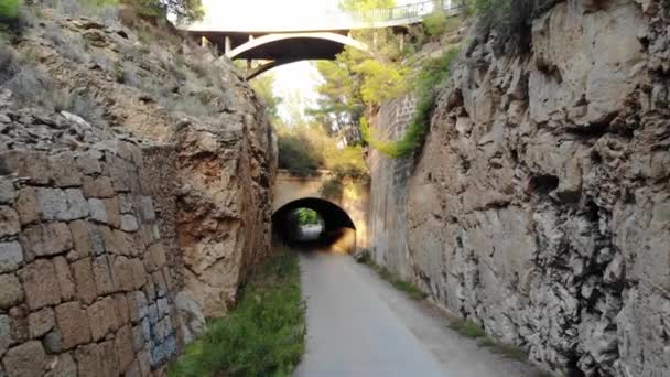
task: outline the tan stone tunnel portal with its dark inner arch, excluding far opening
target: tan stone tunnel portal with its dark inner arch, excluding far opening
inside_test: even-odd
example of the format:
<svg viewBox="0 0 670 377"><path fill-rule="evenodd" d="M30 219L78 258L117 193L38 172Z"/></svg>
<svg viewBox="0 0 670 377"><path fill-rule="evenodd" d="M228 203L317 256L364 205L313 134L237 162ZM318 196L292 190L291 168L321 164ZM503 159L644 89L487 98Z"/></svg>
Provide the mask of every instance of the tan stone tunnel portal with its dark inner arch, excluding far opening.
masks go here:
<svg viewBox="0 0 670 377"><path fill-rule="evenodd" d="M336 180L331 171L318 171L311 176L299 176L280 170L274 183L272 228L284 231L288 216L298 208L310 208L324 220L324 235L334 251L353 252L367 247L369 186L350 179L341 181L342 191L324 195L322 187Z"/></svg>

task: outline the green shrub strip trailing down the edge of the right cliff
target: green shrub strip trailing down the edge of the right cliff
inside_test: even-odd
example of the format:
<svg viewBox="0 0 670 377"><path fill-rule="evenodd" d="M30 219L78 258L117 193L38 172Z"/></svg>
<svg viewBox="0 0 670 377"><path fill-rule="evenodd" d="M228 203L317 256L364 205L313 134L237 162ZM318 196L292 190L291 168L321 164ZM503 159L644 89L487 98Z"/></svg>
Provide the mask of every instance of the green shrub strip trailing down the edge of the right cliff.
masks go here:
<svg viewBox="0 0 670 377"><path fill-rule="evenodd" d="M450 67L457 55L458 49L451 49L441 57L423 63L415 77L417 109L401 139L396 141L378 139L365 118L360 121L364 139L372 148L392 158L407 157L421 146L430 127L440 84L449 76Z"/></svg>

